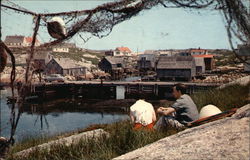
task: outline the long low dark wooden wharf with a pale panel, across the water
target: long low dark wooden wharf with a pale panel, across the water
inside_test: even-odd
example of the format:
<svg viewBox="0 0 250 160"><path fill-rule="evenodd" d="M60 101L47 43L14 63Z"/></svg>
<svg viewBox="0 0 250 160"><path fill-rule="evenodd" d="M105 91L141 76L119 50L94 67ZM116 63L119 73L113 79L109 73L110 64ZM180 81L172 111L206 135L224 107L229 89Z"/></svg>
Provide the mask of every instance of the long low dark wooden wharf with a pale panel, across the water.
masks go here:
<svg viewBox="0 0 250 160"><path fill-rule="evenodd" d="M178 82L68 81L35 83L29 96L42 100L55 98L82 99L171 99L172 87ZM218 83L182 82L188 93L220 86Z"/></svg>

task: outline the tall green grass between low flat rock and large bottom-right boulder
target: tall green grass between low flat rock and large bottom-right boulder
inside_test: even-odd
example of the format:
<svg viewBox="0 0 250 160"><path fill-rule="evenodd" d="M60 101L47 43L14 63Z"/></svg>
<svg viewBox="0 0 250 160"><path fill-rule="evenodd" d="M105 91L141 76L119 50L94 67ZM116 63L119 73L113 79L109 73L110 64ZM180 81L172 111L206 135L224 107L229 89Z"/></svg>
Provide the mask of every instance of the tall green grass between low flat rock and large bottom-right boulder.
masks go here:
<svg viewBox="0 0 250 160"><path fill-rule="evenodd" d="M36 150L27 157L15 157L12 154L7 159L108 160L170 135L170 132L135 131L128 120L107 125L105 130L110 133L109 137L81 140L79 143L70 146L55 145L51 147L50 151ZM177 131L171 132L171 134L174 133L177 133Z"/></svg>

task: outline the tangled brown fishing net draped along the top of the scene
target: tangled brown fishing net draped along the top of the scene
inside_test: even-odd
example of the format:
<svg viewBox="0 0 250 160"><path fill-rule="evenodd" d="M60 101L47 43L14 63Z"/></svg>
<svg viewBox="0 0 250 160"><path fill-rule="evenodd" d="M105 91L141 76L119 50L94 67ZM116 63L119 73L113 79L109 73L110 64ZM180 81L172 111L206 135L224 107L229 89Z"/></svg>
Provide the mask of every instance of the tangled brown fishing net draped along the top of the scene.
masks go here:
<svg viewBox="0 0 250 160"><path fill-rule="evenodd" d="M43 45L49 46L70 39L76 33L90 33L102 38L109 35L116 24L157 5L166 8L221 10L231 35L236 36L243 43L250 41L250 8L247 0L121 0L102 4L94 9L72 12L38 14L24 9L15 8L15 10L33 16L40 15L45 23L54 16L62 17L67 21L67 35ZM5 5L3 7L13 9Z"/></svg>

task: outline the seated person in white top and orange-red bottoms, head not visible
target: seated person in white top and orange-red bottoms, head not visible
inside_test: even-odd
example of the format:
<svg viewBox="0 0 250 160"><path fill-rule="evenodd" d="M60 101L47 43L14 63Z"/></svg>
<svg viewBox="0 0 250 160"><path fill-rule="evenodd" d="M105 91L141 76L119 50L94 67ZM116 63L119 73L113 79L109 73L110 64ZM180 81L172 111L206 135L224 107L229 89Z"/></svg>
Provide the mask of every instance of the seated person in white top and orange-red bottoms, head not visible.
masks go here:
<svg viewBox="0 0 250 160"><path fill-rule="evenodd" d="M151 103L138 100L130 107L130 119L134 123L134 129L153 129L156 121L154 107Z"/></svg>

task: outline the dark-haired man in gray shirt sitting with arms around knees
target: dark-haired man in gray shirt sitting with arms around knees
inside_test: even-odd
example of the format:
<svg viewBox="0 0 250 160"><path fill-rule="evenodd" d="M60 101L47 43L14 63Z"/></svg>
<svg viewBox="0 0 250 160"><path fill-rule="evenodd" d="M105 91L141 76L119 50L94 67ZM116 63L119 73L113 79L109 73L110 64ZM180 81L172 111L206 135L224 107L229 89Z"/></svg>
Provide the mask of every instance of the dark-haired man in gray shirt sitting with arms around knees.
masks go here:
<svg viewBox="0 0 250 160"><path fill-rule="evenodd" d="M157 109L157 113L161 114L162 117L154 126L156 130L167 129L168 126L183 129L188 123L199 118L195 103L185 93L186 86L184 84L178 83L173 87L172 94L177 100L171 107Z"/></svg>

